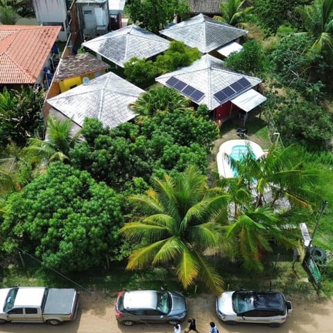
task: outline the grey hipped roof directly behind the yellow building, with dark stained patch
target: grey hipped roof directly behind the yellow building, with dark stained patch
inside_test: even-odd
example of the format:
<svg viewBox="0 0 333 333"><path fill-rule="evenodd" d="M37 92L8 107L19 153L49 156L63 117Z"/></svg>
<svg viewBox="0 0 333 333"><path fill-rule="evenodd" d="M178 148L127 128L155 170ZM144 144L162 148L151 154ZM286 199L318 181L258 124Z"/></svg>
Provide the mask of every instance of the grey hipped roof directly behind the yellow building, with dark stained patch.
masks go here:
<svg viewBox="0 0 333 333"><path fill-rule="evenodd" d="M151 58L169 49L169 40L134 24L107 33L82 45L123 67L130 58Z"/></svg>

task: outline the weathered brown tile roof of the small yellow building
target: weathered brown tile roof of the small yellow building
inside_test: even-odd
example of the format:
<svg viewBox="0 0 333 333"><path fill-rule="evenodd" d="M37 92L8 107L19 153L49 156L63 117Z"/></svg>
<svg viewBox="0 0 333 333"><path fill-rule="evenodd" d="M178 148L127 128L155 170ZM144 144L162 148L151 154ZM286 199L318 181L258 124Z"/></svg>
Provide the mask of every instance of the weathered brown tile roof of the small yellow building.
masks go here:
<svg viewBox="0 0 333 333"><path fill-rule="evenodd" d="M65 80L65 78L103 71L109 67L108 64L105 64L105 62L97 59L90 53L78 53L75 56L60 58L56 73L54 74L54 80Z"/></svg>

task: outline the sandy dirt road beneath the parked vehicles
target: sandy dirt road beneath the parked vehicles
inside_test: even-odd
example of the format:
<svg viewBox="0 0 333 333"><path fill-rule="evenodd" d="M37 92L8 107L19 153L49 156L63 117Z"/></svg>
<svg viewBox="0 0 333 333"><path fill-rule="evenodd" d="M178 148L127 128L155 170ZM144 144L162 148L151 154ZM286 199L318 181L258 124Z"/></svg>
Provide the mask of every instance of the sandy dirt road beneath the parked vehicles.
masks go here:
<svg viewBox="0 0 333 333"><path fill-rule="evenodd" d="M8 323L0 326L0 332L11 333L172 333L171 325L137 324L132 327L119 325L114 316L114 296L101 296L99 293L80 294L80 305L76 321L63 323L52 327L44 324ZM305 302L291 300L293 312L287 323L279 328L266 325L239 324L235 326L223 325L215 313L215 299L213 296L188 298L189 316L197 321L200 333L209 332L209 323L214 321L220 333L328 333L332 332L333 301ZM182 323L182 332L187 327L187 321Z"/></svg>

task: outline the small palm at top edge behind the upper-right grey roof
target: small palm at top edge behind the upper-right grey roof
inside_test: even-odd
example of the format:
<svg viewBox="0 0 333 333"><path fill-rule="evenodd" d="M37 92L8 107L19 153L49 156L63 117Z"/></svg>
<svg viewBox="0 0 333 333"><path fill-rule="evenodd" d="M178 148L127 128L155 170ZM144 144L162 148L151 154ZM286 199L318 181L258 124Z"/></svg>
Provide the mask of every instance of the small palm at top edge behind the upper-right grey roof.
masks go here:
<svg viewBox="0 0 333 333"><path fill-rule="evenodd" d="M214 19L219 19L222 22L231 24L232 26L237 26L244 19L244 15L250 12L253 7L244 6L246 0L228 0L226 2L221 2L221 13L222 17L214 17Z"/></svg>

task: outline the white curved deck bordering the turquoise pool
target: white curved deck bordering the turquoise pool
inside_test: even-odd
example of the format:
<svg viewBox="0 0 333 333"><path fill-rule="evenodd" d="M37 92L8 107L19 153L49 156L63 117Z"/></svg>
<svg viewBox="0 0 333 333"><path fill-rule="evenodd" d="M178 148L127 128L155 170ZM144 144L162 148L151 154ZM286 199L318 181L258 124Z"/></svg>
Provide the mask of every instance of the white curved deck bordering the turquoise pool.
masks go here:
<svg viewBox="0 0 333 333"><path fill-rule="evenodd" d="M216 155L217 169L220 178L234 178L234 172L229 163L229 156L232 153L232 148L234 146L249 146L257 159L264 155L262 147L250 140L237 139L223 142L219 148L219 153Z"/></svg>

